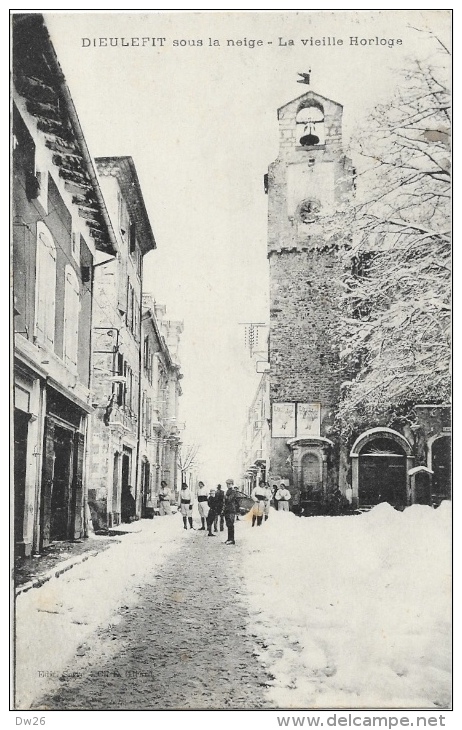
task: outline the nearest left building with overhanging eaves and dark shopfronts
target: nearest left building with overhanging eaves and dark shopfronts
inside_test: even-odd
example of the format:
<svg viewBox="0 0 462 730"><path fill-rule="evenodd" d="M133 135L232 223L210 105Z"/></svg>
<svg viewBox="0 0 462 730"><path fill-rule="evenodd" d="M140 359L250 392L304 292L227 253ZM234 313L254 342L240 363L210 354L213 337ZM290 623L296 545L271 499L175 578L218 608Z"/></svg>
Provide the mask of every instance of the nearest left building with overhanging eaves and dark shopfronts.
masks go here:
<svg viewBox="0 0 462 730"><path fill-rule="evenodd" d="M116 240L43 17L14 15L14 537L86 532L93 271Z"/></svg>

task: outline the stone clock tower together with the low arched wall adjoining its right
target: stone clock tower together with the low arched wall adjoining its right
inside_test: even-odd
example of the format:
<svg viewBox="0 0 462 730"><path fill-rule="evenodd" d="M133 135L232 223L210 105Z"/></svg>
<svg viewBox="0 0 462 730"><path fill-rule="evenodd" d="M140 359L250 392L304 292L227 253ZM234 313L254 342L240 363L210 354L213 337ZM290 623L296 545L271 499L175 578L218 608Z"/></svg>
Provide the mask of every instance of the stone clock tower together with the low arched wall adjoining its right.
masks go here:
<svg viewBox="0 0 462 730"><path fill-rule="evenodd" d="M354 507L388 501L438 504L450 496L450 416L416 404L412 424L383 419L345 443L336 334L340 247L327 227L354 190L342 144L342 106L308 91L278 111L280 147L266 178L270 271L271 483L286 479L296 509L323 509L337 488ZM333 232L335 231L335 232ZM340 231L340 232L339 232Z"/></svg>

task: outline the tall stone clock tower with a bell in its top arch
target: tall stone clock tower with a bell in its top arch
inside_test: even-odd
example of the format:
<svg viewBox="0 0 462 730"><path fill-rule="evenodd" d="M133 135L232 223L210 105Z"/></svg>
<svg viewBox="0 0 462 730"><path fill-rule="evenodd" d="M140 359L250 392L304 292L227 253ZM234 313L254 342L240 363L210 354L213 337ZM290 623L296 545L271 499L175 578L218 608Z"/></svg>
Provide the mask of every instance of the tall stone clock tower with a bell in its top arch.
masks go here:
<svg viewBox="0 0 462 730"><path fill-rule="evenodd" d="M268 170L270 269L269 479L286 479L292 504L316 504L339 485L332 425L339 400L333 329L338 249L328 219L341 215L354 170L342 149L340 104L315 93L278 110L279 156ZM341 230L341 228L340 228Z"/></svg>

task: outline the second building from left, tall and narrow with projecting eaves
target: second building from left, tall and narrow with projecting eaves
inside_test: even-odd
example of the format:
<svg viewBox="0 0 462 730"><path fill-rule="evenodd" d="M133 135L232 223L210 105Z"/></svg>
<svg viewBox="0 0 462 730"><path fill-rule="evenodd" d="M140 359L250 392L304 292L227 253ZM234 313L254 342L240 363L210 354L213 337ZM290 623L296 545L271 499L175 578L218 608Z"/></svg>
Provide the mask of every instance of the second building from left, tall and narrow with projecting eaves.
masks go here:
<svg viewBox="0 0 462 730"><path fill-rule="evenodd" d="M99 261L94 278L88 503L94 526L104 528L127 517L131 497L141 512L143 257L156 243L132 158L100 157L96 165L117 238L116 257Z"/></svg>

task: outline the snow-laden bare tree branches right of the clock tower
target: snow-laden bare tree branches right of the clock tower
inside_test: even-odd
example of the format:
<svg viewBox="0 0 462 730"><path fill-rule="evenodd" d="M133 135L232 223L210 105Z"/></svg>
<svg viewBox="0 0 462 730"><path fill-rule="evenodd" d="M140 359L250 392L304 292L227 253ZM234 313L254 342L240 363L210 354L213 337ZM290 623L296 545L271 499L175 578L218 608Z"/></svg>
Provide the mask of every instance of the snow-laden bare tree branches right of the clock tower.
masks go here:
<svg viewBox="0 0 462 730"><path fill-rule="evenodd" d="M357 197L341 225L342 430L450 394L449 54L416 62L356 140ZM340 231L339 231L340 232Z"/></svg>

